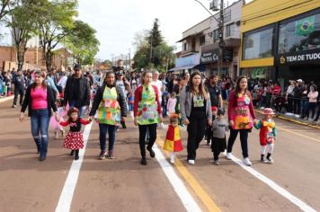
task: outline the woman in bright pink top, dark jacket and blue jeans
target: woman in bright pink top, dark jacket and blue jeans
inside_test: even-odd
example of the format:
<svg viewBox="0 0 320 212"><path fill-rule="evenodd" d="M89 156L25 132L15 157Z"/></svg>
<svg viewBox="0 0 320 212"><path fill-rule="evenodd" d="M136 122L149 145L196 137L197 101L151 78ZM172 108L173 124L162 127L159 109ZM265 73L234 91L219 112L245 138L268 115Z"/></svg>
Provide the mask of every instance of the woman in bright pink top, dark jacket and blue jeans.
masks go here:
<svg viewBox="0 0 320 212"><path fill-rule="evenodd" d="M20 114L20 121L22 121L24 111L28 107L29 116L31 117L31 134L37 145L38 153L40 153L40 161L46 160L47 157L51 109L54 111L53 115L58 119L53 91L45 83L44 77L45 73L41 71L35 72L34 83L27 88Z"/></svg>

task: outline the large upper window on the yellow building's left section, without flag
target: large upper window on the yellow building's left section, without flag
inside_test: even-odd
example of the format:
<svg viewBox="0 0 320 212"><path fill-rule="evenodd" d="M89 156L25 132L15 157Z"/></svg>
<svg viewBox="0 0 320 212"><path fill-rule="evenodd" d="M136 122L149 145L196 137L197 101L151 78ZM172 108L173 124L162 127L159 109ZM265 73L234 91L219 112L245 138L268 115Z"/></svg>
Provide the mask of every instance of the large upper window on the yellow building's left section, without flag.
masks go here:
<svg viewBox="0 0 320 212"><path fill-rule="evenodd" d="M243 59L272 57L273 27L244 33Z"/></svg>

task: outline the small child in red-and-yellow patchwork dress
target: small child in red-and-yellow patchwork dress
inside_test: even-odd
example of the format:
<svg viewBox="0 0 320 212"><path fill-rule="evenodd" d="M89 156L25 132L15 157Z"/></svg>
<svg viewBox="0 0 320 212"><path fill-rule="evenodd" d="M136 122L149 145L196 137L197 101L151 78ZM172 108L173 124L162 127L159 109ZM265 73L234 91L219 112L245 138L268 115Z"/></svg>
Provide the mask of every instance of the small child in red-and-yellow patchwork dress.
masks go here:
<svg viewBox="0 0 320 212"><path fill-rule="evenodd" d="M170 125L164 126L167 129L164 140L164 150L170 152L170 163L174 163L174 153L183 150L182 141L180 137L179 118L177 114L170 116Z"/></svg>

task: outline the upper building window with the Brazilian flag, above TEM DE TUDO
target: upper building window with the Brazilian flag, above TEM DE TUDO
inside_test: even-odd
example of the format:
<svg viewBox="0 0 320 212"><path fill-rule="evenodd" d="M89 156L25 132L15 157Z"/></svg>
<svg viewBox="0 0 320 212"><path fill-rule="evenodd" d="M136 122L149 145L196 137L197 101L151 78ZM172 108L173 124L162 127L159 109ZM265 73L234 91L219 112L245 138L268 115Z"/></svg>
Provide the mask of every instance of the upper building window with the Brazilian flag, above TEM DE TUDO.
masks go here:
<svg viewBox="0 0 320 212"><path fill-rule="evenodd" d="M279 53L320 49L320 13L280 23Z"/></svg>

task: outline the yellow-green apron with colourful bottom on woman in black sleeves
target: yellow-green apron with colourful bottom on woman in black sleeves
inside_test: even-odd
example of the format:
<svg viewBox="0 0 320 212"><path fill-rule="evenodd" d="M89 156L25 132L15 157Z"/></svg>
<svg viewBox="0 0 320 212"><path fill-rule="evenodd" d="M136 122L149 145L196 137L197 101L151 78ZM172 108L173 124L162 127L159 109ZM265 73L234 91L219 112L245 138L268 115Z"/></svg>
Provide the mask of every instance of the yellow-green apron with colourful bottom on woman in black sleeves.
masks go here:
<svg viewBox="0 0 320 212"><path fill-rule="evenodd" d="M105 87L102 102L98 109L98 123L118 125L118 122L120 122L120 105L117 97L115 87Z"/></svg>

